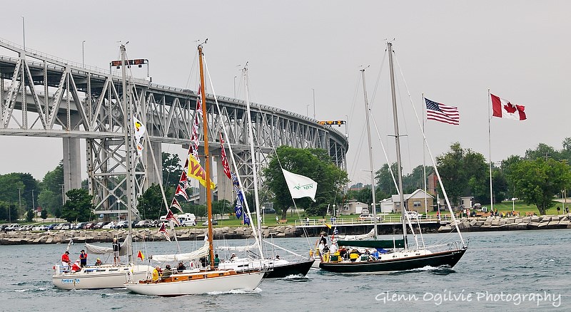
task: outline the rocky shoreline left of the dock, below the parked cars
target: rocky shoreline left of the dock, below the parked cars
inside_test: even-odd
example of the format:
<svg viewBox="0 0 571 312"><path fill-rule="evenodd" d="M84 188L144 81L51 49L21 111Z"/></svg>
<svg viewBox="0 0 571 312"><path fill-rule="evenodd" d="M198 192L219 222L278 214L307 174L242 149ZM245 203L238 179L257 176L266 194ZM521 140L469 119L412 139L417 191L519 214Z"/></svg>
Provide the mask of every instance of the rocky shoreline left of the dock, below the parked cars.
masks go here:
<svg viewBox="0 0 571 312"><path fill-rule="evenodd" d="M171 233L171 239L174 234ZM176 238L180 241L204 239L208 229L204 228L176 228ZM297 237L302 236L303 231L294 226L262 227L264 237ZM74 243L111 243L113 238L123 240L127 237L126 229L112 230L69 230L48 232L8 232L0 233L0 245L20 244L67 244L70 239ZM214 239L245 239L253 237L250 227L216 227L213 229ZM158 229L133 229L133 241L164 241L165 237L158 233Z"/></svg>

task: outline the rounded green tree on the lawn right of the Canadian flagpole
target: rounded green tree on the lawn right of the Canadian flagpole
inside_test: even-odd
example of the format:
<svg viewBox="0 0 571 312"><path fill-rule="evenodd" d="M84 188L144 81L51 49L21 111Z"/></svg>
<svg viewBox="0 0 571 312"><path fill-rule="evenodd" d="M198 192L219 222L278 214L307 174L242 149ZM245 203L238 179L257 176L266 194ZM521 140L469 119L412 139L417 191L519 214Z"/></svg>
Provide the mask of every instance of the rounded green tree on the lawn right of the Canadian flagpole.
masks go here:
<svg viewBox="0 0 571 312"><path fill-rule="evenodd" d="M553 197L570 187L571 170L565 162L539 157L523 160L510 166L508 178L515 194L526 204L535 204L540 214L553 207Z"/></svg>

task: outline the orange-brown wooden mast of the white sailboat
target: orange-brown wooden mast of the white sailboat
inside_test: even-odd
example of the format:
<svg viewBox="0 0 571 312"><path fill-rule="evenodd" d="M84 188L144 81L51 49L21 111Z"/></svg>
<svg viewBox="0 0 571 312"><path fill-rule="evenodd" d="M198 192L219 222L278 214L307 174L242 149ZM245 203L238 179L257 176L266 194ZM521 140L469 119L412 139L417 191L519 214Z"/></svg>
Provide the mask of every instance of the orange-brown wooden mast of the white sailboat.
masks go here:
<svg viewBox="0 0 571 312"><path fill-rule="evenodd" d="M210 267L214 269L214 246L212 244L212 189L211 189L211 169L210 169L210 153L208 152L208 117L206 115L206 92L204 90L204 69L202 59L202 45L198 46L198 60L201 71L201 102L202 102L202 127L204 132L204 157L206 158L206 209L208 210L208 249L210 249Z"/></svg>

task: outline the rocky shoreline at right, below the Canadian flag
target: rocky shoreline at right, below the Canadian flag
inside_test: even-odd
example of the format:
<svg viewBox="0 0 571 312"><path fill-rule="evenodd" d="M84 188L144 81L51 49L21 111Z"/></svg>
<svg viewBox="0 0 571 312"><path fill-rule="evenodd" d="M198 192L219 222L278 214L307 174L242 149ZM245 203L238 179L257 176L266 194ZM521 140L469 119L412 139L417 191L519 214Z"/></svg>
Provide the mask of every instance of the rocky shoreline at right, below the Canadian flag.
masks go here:
<svg viewBox="0 0 571 312"><path fill-rule="evenodd" d="M457 219L456 223L443 225L438 232L450 232L455 224L463 232L507 231L522 229L571 229L571 215L530 217L475 217Z"/></svg>

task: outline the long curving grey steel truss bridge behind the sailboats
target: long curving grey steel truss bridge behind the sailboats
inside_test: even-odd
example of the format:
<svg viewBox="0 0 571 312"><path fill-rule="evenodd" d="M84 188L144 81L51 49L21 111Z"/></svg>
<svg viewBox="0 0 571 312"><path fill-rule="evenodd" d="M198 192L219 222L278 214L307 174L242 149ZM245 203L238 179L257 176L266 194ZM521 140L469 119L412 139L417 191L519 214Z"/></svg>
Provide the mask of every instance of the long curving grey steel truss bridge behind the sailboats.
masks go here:
<svg viewBox="0 0 571 312"><path fill-rule="evenodd" d="M96 212L117 213L127 195L136 198L161 178L162 143L181 145L186 150L190 142L196 92L150 80L129 77L126 103L130 105L124 105L123 81L116 71L82 66L29 48L24 51L0 39L0 135L61 137L65 191L81 187L81 172L86 170ZM125 128L130 123L126 108L146 125L148 134L143 157L133 157L131 165L123 161L126 150L134 150L133 140L126 140ZM208 94L206 108L209 132L214 134L209 137L213 158L216 161L220 154L216 134L225 127L238 171L245 178L245 187L250 188L253 173L246 102ZM258 103L251 103L251 114L258 162L266 160L273 146L289 145L328 150L335 165L346 169L348 139L342 132L303 115ZM84 169L80 140L86 140ZM221 172L221 163L216 165ZM135 172L135 187L131 190L126 189L128 167ZM141 170L143 167L146 170ZM218 181L218 197L233 201L228 180Z"/></svg>

